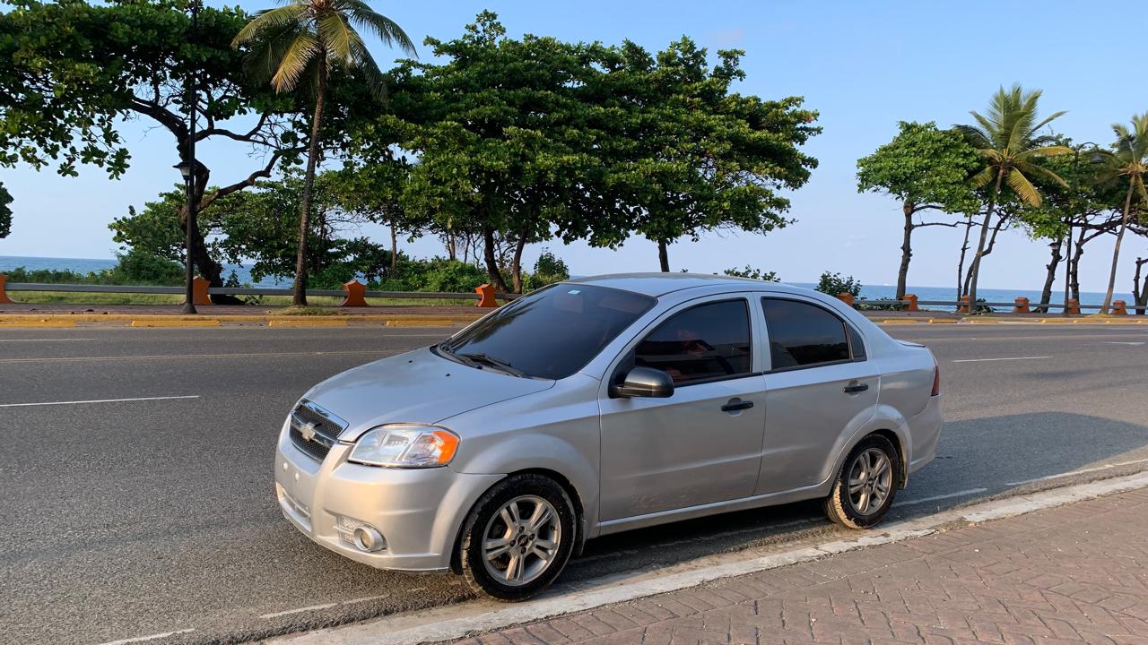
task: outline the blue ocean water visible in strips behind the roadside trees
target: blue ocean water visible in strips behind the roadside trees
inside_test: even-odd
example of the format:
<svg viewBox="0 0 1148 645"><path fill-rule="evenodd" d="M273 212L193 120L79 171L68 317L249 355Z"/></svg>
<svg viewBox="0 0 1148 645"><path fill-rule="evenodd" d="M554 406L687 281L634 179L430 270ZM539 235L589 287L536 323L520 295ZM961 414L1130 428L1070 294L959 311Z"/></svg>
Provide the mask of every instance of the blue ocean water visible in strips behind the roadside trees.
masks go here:
<svg viewBox="0 0 1148 645"><path fill-rule="evenodd" d="M6 270L13 270L17 266L23 266L29 271L37 269L54 269L56 271L76 271L79 273L92 273L102 271L104 269L111 269L116 265L115 259L85 259L85 258L71 258L71 257L21 257L21 256L0 256L0 273ZM256 287L289 287L289 278L265 278L261 282L253 282L250 269L241 264L227 265L224 270L224 277L228 275L232 271L239 278L240 283L253 285ZM813 288L815 285L807 282L797 282L798 286ZM1063 283L1062 283L1063 285ZM1064 298L1063 286L1053 286L1053 302L1061 302ZM861 289L861 295L869 300L883 300L892 298L897 293L897 287L893 285L866 285ZM908 287L908 293L916 294L922 301L955 301L956 289L954 287ZM1032 289L977 289L977 296L985 298L987 302L1013 302L1014 298L1018 296L1027 297L1031 302L1040 302L1040 290ZM1116 300L1124 300L1127 303L1132 302L1132 294L1117 293L1114 296ZM1104 294L1099 292L1081 292L1080 293L1080 304L1101 304L1104 302ZM930 309L945 309L941 306L931 306ZM1054 310L1056 311L1056 310ZM1085 311L1087 313L1087 311Z"/></svg>

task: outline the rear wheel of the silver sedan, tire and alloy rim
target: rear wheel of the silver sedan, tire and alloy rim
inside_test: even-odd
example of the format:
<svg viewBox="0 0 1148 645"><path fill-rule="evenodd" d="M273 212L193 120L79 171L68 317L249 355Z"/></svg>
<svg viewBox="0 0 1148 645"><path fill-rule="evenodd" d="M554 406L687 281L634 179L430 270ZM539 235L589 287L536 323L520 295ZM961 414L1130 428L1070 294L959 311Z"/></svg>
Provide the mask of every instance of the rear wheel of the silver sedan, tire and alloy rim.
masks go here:
<svg viewBox="0 0 1148 645"><path fill-rule="evenodd" d="M830 520L852 529L869 528L882 520L901 481L901 460L892 442L870 435L845 458L833 489L825 498Z"/></svg>

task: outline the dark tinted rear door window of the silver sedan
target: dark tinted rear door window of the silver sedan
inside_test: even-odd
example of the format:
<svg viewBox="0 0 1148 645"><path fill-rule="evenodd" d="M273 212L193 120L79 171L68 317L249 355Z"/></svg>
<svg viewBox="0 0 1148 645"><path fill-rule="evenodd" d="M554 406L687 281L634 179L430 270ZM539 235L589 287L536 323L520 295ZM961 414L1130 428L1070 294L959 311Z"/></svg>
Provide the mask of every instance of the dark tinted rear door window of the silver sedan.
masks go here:
<svg viewBox="0 0 1148 645"><path fill-rule="evenodd" d="M762 298L774 370L850 360L845 321L829 311L790 300Z"/></svg>

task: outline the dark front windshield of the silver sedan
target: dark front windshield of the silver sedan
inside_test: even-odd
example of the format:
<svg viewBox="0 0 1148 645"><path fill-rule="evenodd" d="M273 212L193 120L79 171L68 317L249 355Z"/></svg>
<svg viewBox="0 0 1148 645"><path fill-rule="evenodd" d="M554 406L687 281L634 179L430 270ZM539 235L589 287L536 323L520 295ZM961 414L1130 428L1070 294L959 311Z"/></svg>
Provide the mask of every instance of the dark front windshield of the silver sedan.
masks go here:
<svg viewBox="0 0 1148 645"><path fill-rule="evenodd" d="M472 367L564 379L581 370L654 302L621 289L552 285L507 304L437 349Z"/></svg>

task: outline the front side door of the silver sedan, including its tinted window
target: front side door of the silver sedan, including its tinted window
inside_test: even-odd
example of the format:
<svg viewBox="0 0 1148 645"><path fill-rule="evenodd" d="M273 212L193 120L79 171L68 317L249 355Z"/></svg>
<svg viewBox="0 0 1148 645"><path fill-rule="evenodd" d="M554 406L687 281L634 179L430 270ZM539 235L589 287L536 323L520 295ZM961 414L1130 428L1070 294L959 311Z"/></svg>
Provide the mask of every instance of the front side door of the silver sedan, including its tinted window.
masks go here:
<svg viewBox="0 0 1148 645"><path fill-rule="evenodd" d="M604 388L603 521L752 495L766 402L750 308L728 295L682 305L615 363L615 382L653 367L670 374L674 393L612 397Z"/></svg>

